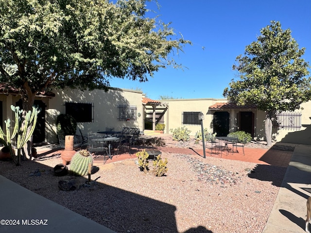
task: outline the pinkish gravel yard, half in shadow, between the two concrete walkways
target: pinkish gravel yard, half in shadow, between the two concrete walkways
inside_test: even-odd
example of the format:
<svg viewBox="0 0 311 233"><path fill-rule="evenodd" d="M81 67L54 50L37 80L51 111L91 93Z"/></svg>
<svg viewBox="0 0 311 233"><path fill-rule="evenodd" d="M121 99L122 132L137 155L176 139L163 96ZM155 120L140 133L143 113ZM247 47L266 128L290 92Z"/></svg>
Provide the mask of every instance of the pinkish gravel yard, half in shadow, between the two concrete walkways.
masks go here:
<svg viewBox="0 0 311 233"><path fill-rule="evenodd" d="M163 177L141 172L133 158L94 167L90 185L86 177L55 177L60 156L19 167L0 161L0 174L119 233L261 233L286 171L196 155L162 158L169 161ZM60 180L82 187L63 191Z"/></svg>

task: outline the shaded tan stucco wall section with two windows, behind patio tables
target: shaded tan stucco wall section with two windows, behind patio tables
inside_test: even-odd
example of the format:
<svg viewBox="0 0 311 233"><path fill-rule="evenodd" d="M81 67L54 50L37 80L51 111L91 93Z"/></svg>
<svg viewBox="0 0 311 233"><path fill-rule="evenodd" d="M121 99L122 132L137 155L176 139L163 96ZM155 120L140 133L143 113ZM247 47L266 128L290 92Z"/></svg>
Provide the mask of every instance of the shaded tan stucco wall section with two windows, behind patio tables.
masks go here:
<svg viewBox="0 0 311 233"><path fill-rule="evenodd" d="M78 123L83 133L96 133L105 131L106 127L114 127L115 131L121 131L123 127L143 129L142 116L137 121L119 121L118 105L131 104L137 106L137 113L142 113L141 91L117 89L104 92L103 90L80 91L80 90L53 90L56 97L49 101L49 109L46 111L46 128L48 129L49 142L57 142L56 117L65 113L65 102L92 103L93 122ZM81 113L83 114L83 113ZM142 114L141 114L142 115ZM56 141L55 141L56 140Z"/></svg>

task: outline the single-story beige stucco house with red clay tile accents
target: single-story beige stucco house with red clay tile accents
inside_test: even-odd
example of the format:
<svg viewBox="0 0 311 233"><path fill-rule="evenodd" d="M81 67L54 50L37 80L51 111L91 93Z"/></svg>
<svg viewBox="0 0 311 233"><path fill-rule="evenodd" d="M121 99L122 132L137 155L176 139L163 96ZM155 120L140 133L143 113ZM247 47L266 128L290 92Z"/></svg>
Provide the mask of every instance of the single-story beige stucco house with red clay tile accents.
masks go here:
<svg viewBox="0 0 311 233"><path fill-rule="evenodd" d="M302 105L303 110L293 113L276 113L273 140L311 145L311 102ZM0 85L0 126L5 119L14 119L11 104L21 105L17 90L4 89ZM146 122L164 123L164 133L185 126L191 135L201 130L198 114L204 114L203 125L210 132L226 135L243 130L256 140L264 140L265 114L256 106L236 106L225 99L176 99L151 100L141 91L120 88L103 90L52 90L38 93L35 105L42 109L34 133L34 143L57 143L56 117L62 113L76 118L83 133L105 131L123 127L145 130ZM150 124L149 124L150 125Z"/></svg>

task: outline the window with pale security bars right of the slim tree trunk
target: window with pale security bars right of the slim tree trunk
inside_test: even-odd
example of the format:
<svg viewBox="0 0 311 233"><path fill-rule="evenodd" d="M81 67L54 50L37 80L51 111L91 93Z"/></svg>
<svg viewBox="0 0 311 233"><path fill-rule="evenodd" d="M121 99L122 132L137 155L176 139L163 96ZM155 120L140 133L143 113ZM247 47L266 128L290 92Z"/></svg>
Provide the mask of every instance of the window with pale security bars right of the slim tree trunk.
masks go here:
<svg viewBox="0 0 311 233"><path fill-rule="evenodd" d="M301 112L276 112L273 126L280 130L300 130Z"/></svg>

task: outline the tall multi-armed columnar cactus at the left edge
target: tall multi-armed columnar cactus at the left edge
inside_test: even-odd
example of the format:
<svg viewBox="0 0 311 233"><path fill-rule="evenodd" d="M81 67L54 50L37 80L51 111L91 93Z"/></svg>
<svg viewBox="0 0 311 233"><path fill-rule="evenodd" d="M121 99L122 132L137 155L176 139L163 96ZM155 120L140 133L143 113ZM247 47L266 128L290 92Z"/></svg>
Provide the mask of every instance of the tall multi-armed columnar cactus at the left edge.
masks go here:
<svg viewBox="0 0 311 233"><path fill-rule="evenodd" d="M20 110L18 106L15 107L14 105L11 105L11 109L13 112L15 112L15 126L13 132L11 134L11 120L5 120L4 123L6 133L3 133L2 129L0 128L0 140L2 141L4 146L9 149L14 163L18 166L20 165L21 149L33 135L37 122L37 116L41 109L33 106L33 110L28 111L27 113L23 110ZM15 137L17 155L15 155L14 150L12 149L12 140Z"/></svg>

